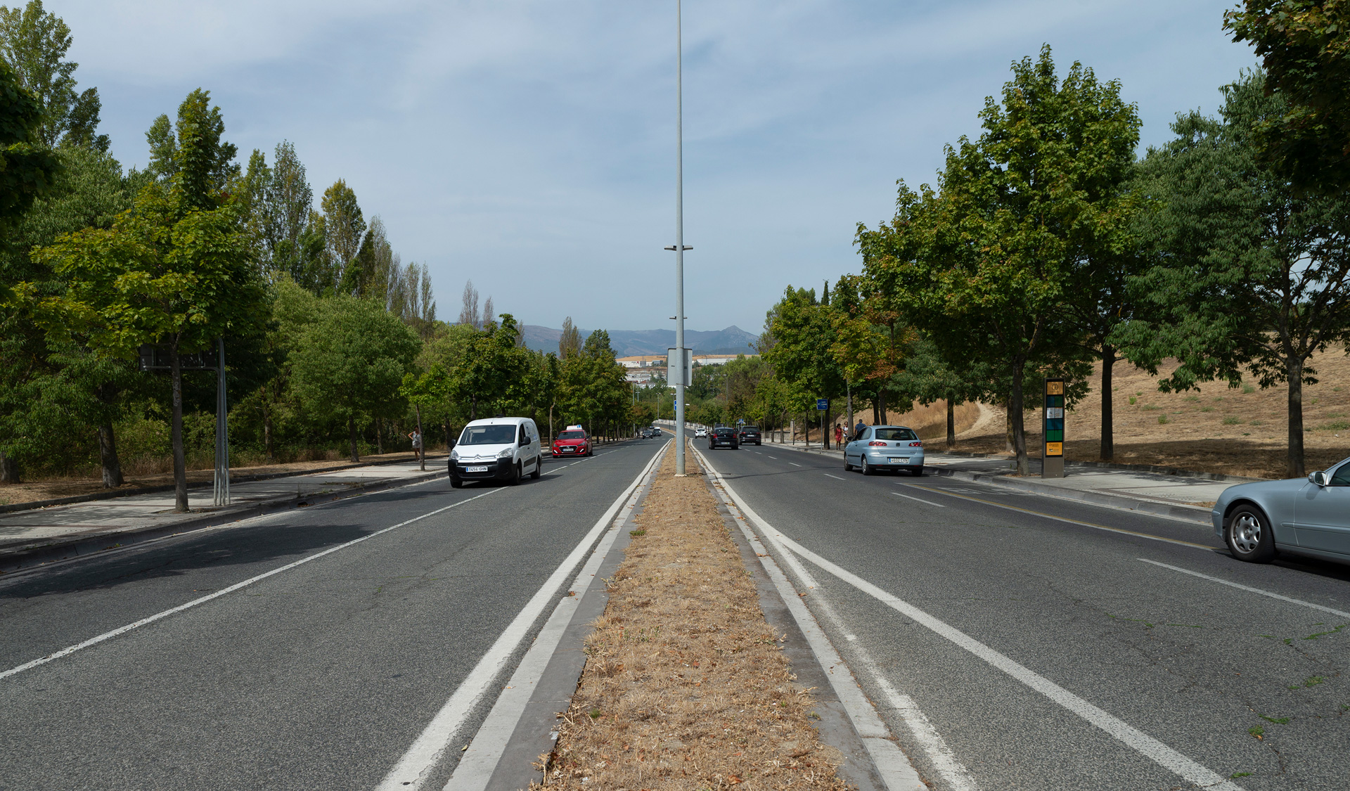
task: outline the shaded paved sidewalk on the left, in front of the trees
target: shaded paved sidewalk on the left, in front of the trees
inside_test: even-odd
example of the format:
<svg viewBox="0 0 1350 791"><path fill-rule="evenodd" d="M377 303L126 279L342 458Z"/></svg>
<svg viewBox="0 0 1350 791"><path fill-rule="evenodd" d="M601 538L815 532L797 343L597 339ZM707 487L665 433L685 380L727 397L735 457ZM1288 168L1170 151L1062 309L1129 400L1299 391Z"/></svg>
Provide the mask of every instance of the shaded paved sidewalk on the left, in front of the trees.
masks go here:
<svg viewBox="0 0 1350 791"><path fill-rule="evenodd" d="M230 487L231 505L220 508L212 505L211 486L198 486L188 490L189 513L174 513L173 491L0 513L0 574L99 552L131 540L219 525L444 474L444 458L440 458L427 459L425 472L417 468L417 462L409 460L242 481Z"/></svg>

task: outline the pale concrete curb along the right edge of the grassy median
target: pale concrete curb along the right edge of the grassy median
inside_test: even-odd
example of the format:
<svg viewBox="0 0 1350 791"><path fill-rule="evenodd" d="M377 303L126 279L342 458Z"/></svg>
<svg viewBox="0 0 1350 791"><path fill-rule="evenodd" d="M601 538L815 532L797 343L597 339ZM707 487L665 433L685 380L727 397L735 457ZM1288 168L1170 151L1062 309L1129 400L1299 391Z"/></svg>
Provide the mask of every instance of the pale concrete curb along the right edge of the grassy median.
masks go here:
<svg viewBox="0 0 1350 791"><path fill-rule="evenodd" d="M713 475L722 482L724 487L726 479L707 463L707 458L698 451L701 463L705 470L711 470ZM726 497L726 490L721 490L720 495L726 508L733 513L740 510L737 503ZM848 713L849 719L853 722L853 729L857 732L859 738L863 741L863 748L867 749L868 756L871 756L872 763L876 765L876 771L882 775L882 780L890 791L927 791L927 786L919 779L918 772L910 764L909 757L900 748L891 741L891 732L886 726L886 722L876 714L876 709L872 706L867 695L863 694L861 687L857 686L857 679L853 678L852 671L844 664L838 652L830 644L829 637L826 637L825 630L811 616L811 611L806 609L802 599L792 590L792 583L788 582L787 575L779 568L778 563L760 543L759 536L745 524L744 520L738 521L741 533L745 540L749 541L751 547L755 549L755 555L759 556L760 564L764 567L764 572L768 578L774 580L774 587L778 590L778 595L787 605L790 613L792 613L792 620L796 621L798 628L806 637L807 645L811 647L811 652L815 655L817 661L825 670L825 675L830 680L830 687L838 697L840 703L844 705L844 710ZM792 564L794 571L801 571L803 582L810 587L814 587L814 580L805 568L801 568L801 562L792 557L790 553L782 553L783 559Z"/></svg>

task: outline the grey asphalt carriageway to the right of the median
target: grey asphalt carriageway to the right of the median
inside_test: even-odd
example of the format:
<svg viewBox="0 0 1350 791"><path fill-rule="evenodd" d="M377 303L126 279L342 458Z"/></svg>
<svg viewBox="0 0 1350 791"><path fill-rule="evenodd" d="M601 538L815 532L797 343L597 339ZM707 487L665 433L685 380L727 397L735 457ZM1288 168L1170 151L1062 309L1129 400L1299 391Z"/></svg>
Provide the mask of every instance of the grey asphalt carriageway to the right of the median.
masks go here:
<svg viewBox="0 0 1350 791"><path fill-rule="evenodd" d="M764 521L855 575L794 551L818 584L805 601L936 787L1195 787L1160 764L1170 749L1239 788L1350 788L1350 617L1307 606L1350 611L1350 567L1239 563L1207 526L934 474L698 447Z"/></svg>

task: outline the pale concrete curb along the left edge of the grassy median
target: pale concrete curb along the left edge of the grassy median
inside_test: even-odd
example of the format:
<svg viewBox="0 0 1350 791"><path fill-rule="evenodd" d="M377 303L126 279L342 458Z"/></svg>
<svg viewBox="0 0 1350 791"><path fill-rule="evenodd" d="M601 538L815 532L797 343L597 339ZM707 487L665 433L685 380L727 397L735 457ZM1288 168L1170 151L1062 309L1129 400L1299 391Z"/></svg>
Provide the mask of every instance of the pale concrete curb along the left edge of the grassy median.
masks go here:
<svg viewBox="0 0 1350 791"><path fill-rule="evenodd" d="M563 640L563 633L572 622L572 616L590 591L591 583L595 582L599 564L605 560L610 547L614 545L614 539L618 537L625 520L637 508L637 498L643 491L643 486L651 483L651 479L656 476L656 470L660 467L660 460L664 455L666 448L662 448L660 454L643 471L641 483L629 494L622 513L616 514L610 520L605 537L599 540L595 551L590 555L590 560L586 562L576 579L572 580L571 590L576 595L562 597L558 602L554 614L549 616L548 622L539 632L535 644L525 652L525 657L521 659L516 672L506 682L506 687L497 698L491 711L487 713L487 718L483 719L473 741L468 742L468 749L464 751L459 763L455 764L455 772L446 782L444 791L482 791L487 787L493 772L497 771L497 764L501 763L502 753L506 751L506 744L510 741L512 734L516 733L520 718L535 695L536 684L539 684L540 676L544 675L544 668L552 660L554 652L558 651L558 644Z"/></svg>

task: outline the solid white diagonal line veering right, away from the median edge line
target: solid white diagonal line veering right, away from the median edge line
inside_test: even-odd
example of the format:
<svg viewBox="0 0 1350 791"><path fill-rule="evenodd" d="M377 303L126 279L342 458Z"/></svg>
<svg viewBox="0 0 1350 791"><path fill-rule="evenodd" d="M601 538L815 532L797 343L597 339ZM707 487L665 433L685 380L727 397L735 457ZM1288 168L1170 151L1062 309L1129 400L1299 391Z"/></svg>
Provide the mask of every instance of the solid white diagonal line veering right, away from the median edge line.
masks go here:
<svg viewBox="0 0 1350 791"><path fill-rule="evenodd" d="M718 476L721 478L721 476ZM815 566L824 568L829 574L842 579L844 582L852 584L853 587L861 590L863 593L871 595L879 602L887 605L888 607L905 614L911 621L921 624L929 630L937 633L946 640L950 640L956 645L964 648L965 651L973 653L975 656L983 659L986 663L996 667L1004 674L1013 676L1014 679L1022 682L1027 687L1041 692L1046 698L1054 701L1060 706L1064 706L1069 711L1077 714L1079 717L1087 719L1092 725L1100 728L1110 736L1119 740L1122 744L1130 749L1138 752L1139 755L1153 760L1158 765L1180 775L1189 783L1196 786L1203 786L1206 788L1216 788L1219 791L1242 791L1241 786L1230 783L1224 778L1219 776L1212 769L1200 765L1196 761L1185 757L1180 752L1172 749L1170 746L1162 744L1157 738L1138 730L1123 719L1106 713L1104 710L1088 703L1083 698L1075 695L1073 692L1065 690L1064 687L1056 684L1050 679L1031 671L1030 668L1018 664L1013 659L999 653L998 651L984 645L979 640L975 640L969 634L948 625L938 618L927 614L926 611L915 607L914 605L906 602L905 599L890 594L880 587L872 584L871 582L857 576L856 574L846 571L834 563L830 563L825 557L821 557L815 552L811 552L806 547L802 547L796 541L788 539L776 528L764 521L755 509L749 508L744 499L726 483L722 478L722 487L725 491L736 501L736 505L741 508L748 518L753 518L755 522L764 530L765 537L771 543L782 547L786 551L795 552L802 557L810 560ZM922 489L922 487L921 487ZM1021 509L1015 509L1021 510Z"/></svg>

